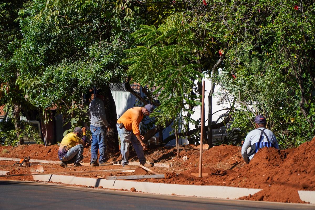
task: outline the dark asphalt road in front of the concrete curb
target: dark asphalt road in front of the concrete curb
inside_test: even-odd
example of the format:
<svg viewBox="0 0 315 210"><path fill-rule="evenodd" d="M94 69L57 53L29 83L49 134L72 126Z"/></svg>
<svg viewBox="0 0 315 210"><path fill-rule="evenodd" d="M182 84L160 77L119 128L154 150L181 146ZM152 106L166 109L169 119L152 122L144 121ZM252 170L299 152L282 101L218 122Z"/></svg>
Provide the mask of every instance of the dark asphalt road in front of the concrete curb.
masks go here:
<svg viewBox="0 0 315 210"><path fill-rule="evenodd" d="M35 182L0 181L0 209L314 210L315 205L152 195Z"/></svg>

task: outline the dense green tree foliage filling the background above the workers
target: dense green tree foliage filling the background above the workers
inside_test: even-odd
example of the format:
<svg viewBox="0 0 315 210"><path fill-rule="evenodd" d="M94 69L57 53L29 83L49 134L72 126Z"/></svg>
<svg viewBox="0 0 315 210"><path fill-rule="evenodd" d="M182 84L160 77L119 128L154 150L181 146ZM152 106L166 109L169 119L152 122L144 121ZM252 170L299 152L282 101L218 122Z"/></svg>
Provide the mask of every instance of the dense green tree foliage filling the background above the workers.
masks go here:
<svg viewBox="0 0 315 210"><path fill-rule="evenodd" d="M55 107L80 125L88 122L90 89L132 82L146 91L142 102L157 105L156 125L174 121L188 133L200 123L190 116L203 78L212 82L209 133L218 84L232 127L249 131L255 114L264 114L283 148L313 137L310 1L31 0L0 8L0 102L17 137L20 115L48 123Z"/></svg>

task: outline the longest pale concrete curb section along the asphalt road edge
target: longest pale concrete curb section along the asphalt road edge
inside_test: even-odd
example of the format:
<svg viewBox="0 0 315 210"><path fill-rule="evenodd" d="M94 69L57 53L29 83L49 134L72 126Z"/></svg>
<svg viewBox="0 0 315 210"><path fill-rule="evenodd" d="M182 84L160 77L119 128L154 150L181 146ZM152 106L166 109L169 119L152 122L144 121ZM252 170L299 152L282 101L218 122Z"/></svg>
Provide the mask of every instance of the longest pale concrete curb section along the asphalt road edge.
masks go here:
<svg viewBox="0 0 315 210"><path fill-rule="evenodd" d="M55 182L63 184L75 184L94 186L108 189L124 189L130 190L134 187L137 191L144 193L163 194L163 195L184 195L184 196L197 196L209 198L230 198L237 199L249 194L255 194L260 189L248 189L238 187L226 186L209 186L209 185L184 185L184 184L164 184L152 182L137 182L126 180L107 180L102 178L85 178L65 175L36 175L33 176L34 180L43 182Z"/></svg>

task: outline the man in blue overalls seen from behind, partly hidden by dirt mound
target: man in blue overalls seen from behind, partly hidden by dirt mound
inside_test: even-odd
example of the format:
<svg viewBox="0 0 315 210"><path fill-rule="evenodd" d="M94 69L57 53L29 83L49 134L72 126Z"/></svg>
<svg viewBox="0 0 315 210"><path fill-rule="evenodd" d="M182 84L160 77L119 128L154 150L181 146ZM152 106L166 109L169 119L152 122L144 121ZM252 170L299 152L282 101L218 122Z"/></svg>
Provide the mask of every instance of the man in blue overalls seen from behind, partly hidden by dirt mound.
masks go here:
<svg viewBox="0 0 315 210"><path fill-rule="evenodd" d="M246 163L249 163L257 151L263 147L279 149L276 136L272 131L266 129L266 118L263 115L257 115L255 117L255 125L256 129L247 134L242 146L242 156ZM249 147L251 147L251 149L247 154Z"/></svg>

